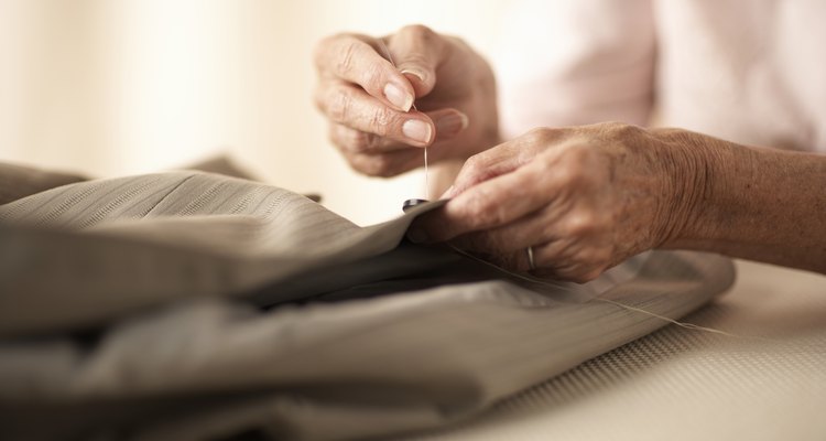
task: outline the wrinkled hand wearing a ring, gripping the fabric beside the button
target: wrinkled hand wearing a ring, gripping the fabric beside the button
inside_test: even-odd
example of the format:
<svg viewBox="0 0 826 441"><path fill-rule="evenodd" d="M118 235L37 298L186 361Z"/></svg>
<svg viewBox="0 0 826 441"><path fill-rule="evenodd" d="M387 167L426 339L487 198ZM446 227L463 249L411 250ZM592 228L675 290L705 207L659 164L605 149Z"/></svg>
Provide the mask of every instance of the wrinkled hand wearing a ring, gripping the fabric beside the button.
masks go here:
<svg viewBox="0 0 826 441"><path fill-rule="evenodd" d="M620 123L536 129L471 157L444 196L453 198L409 237L453 240L518 271L531 269L532 247L534 275L595 279L688 222L697 180L685 144L674 131Z"/></svg>

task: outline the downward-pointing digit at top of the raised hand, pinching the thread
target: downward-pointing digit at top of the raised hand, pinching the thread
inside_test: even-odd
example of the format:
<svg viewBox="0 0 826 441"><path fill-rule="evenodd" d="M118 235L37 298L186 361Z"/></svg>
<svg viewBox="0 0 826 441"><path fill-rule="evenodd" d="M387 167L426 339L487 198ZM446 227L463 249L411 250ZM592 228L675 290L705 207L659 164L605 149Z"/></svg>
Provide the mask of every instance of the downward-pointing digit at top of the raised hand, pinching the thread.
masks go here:
<svg viewBox="0 0 826 441"><path fill-rule="evenodd" d="M395 66L407 77L417 97L430 94L435 87L444 47L444 40L421 24L402 28L388 44Z"/></svg>

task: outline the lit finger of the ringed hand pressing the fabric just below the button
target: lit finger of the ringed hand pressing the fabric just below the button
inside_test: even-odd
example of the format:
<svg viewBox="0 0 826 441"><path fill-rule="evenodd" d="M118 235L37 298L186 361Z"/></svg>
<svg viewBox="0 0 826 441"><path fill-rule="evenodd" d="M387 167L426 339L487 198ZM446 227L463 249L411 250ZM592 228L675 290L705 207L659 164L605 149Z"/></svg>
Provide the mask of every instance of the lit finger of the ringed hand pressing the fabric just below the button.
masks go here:
<svg viewBox="0 0 826 441"><path fill-rule="evenodd" d="M507 225L540 209L548 198L541 170L524 166L459 193L442 208L416 219L411 240L449 240L460 234Z"/></svg>

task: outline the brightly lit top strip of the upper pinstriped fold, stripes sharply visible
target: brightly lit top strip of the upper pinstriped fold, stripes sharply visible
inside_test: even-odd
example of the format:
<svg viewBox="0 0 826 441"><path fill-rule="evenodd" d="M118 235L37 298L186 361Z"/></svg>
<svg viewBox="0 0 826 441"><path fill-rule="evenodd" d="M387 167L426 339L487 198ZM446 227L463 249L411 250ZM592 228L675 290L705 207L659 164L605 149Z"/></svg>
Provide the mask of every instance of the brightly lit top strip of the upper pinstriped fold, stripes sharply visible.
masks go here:
<svg viewBox="0 0 826 441"><path fill-rule="evenodd" d="M281 213L285 216L279 217ZM352 223L292 192L197 172L84 182L0 206L0 220L7 223L72 229L108 226L124 219L209 215L252 216L267 225L278 223L279 228L269 229L276 236L272 240L284 239L280 232L290 230L305 232L298 235L302 240L324 243L357 229Z"/></svg>

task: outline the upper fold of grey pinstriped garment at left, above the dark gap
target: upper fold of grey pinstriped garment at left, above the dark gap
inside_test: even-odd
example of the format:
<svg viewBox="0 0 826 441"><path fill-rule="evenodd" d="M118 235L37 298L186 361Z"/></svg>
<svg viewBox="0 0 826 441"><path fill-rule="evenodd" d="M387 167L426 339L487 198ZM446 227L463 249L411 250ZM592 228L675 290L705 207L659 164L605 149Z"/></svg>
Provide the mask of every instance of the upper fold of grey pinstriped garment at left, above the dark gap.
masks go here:
<svg viewBox="0 0 826 441"><path fill-rule="evenodd" d="M0 206L0 261L20 269L0 278L0 334L237 295L391 250L409 222L360 228L290 191L199 172L52 189Z"/></svg>

